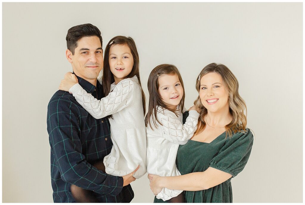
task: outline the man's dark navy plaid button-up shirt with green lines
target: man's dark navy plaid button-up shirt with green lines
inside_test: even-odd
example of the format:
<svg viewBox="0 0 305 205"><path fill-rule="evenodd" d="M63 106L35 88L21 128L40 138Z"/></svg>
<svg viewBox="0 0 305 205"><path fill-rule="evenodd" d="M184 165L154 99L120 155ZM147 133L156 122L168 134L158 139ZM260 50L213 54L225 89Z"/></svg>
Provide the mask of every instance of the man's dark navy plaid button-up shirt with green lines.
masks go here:
<svg viewBox="0 0 305 205"><path fill-rule="evenodd" d="M79 84L97 99L103 97L96 87L77 77ZM103 160L112 148L108 118L95 119L65 91L57 91L48 104L47 129L51 146L51 184L53 201L74 202L70 185L93 190L99 202L130 202L131 186L123 178L111 176L92 166Z"/></svg>

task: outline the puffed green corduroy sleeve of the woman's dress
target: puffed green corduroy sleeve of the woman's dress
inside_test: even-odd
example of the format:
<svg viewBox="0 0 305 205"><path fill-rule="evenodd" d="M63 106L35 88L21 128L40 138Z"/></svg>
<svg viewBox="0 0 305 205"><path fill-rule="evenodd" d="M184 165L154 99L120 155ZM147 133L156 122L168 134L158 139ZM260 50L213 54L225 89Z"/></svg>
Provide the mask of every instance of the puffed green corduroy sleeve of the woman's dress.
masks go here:
<svg viewBox="0 0 305 205"><path fill-rule="evenodd" d="M227 138L227 142L219 153L210 161L210 167L227 172L235 177L246 166L252 145L253 134L249 129L246 133L238 132Z"/></svg>

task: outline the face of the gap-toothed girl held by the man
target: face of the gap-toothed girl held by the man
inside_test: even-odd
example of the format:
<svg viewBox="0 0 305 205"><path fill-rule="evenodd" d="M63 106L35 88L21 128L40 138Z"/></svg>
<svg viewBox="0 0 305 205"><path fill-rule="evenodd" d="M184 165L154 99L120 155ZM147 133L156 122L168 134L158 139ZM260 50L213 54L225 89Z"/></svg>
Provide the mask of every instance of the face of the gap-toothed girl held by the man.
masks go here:
<svg viewBox="0 0 305 205"><path fill-rule="evenodd" d="M117 84L130 74L134 61L127 45L113 45L109 49L109 67Z"/></svg>

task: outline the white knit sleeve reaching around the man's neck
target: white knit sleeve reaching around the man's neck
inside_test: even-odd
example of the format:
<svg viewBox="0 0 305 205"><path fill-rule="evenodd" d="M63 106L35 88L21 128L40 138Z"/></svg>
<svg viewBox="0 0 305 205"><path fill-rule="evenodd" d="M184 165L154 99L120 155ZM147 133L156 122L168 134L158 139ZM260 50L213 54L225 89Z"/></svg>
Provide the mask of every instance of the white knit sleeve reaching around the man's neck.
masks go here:
<svg viewBox="0 0 305 205"><path fill-rule="evenodd" d="M130 105L133 100L134 82L130 79L120 81L112 92L98 100L87 93L78 83L70 88L76 101L95 119L117 113Z"/></svg>

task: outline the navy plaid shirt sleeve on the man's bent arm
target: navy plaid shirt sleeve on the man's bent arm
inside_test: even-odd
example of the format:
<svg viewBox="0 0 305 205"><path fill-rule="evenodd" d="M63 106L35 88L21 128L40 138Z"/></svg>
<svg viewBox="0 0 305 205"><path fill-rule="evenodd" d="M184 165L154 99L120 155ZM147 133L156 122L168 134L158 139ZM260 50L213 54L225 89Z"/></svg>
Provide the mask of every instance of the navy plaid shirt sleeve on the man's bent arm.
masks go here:
<svg viewBox="0 0 305 205"><path fill-rule="evenodd" d="M123 178L108 175L91 164L82 154L80 126L68 99L55 99L48 106L48 134L61 179L101 194L117 196Z"/></svg>

